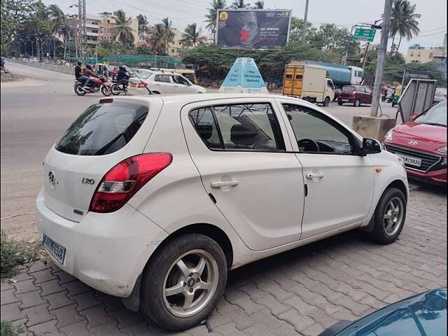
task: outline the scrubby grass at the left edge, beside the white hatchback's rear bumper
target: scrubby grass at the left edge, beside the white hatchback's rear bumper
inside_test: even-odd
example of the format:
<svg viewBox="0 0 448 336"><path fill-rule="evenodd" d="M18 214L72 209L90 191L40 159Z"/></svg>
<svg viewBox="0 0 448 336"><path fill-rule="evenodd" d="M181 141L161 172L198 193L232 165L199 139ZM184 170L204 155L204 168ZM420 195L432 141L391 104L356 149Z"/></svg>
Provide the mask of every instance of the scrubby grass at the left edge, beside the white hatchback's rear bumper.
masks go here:
<svg viewBox="0 0 448 336"><path fill-rule="evenodd" d="M19 265L37 260L38 252L41 249L40 244L29 246L12 239L8 239L8 236L4 230L1 230L0 247L0 273L2 278L12 274ZM1 336L3 336L3 333Z"/></svg>

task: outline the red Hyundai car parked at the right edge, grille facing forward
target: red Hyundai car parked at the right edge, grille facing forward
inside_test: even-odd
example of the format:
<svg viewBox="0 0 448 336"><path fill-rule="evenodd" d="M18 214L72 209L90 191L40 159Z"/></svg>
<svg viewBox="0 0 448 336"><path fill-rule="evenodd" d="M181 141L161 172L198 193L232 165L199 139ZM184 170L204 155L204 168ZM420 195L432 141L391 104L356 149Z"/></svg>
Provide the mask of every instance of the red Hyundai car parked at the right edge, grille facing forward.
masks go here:
<svg viewBox="0 0 448 336"><path fill-rule="evenodd" d="M402 158L410 178L446 184L447 99L412 117L387 132L386 151Z"/></svg>

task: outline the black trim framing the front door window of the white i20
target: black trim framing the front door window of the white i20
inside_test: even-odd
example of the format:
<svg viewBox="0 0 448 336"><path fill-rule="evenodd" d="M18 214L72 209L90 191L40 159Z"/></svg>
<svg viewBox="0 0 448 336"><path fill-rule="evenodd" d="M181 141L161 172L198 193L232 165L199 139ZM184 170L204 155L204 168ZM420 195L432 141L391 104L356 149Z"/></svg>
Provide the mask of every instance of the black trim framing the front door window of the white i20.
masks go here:
<svg viewBox="0 0 448 336"><path fill-rule="evenodd" d="M305 109L309 109L315 113L318 113L320 116L323 116L323 118L321 120L325 121L326 123L330 124L330 126L335 127L339 132L341 132L342 134L344 134L348 139L349 139L349 143L351 145L351 147L353 148L353 153L331 153L331 152L302 152L302 151L294 151L293 153L297 153L297 154L311 154L311 155L316 155L316 154L325 154L325 155L346 155L346 156L360 156L360 147L362 146L360 144L360 141L358 139L356 139L355 135L350 132L349 130L346 129L346 127L344 127L343 125L337 123L337 121L333 120L332 118L325 116L325 114L321 113L321 111L317 111L316 109L311 109L309 106L304 106L304 105L300 105L297 104L295 102L285 102L285 101L280 101L281 104L281 109L283 109L283 112L285 113L286 119L288 120L288 123L290 125L290 121L288 118L288 115L286 114L286 111L283 107L284 104L290 104L290 105L296 105L296 106L300 106L301 108L305 108ZM295 132L294 132L294 128L293 125L290 125L291 130L293 130L293 136L294 136L294 141L295 144L297 144L297 137L295 137Z"/></svg>

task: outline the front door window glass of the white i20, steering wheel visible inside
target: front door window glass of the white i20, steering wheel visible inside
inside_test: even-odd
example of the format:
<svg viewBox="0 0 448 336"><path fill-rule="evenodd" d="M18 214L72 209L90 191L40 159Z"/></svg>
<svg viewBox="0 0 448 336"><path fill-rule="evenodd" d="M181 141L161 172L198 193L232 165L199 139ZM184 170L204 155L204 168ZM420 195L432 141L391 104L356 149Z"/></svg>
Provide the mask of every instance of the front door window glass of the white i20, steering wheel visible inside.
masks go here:
<svg viewBox="0 0 448 336"><path fill-rule="evenodd" d="M283 104L283 109L293 128L300 152L354 153L349 131L323 113L295 104Z"/></svg>

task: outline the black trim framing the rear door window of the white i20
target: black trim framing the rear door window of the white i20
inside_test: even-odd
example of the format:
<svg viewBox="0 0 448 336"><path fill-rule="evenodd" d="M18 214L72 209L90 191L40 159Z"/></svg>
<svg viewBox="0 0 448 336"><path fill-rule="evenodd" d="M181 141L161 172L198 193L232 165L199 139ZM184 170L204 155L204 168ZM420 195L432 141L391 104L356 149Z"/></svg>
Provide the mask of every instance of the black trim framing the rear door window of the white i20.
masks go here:
<svg viewBox="0 0 448 336"><path fill-rule="evenodd" d="M221 133L221 127L218 124L218 119L216 118L215 112L213 109L211 109L211 115L213 116L214 119L214 123L216 124L216 131L218 132L218 137L219 137L219 141L221 142L221 148L211 148L209 147L209 145L207 144L206 141L204 141L204 139L202 139L201 135L199 134L199 132L197 132L195 125L193 124L193 120L191 120L190 118L190 113L194 110L197 109L207 109L209 107L214 107L214 106L230 106L230 105L242 105L242 104L269 104L269 106L271 106L271 110L274 114L274 118L276 120L276 122L279 125L279 132L280 132L280 139L281 139L281 145L283 146L283 149L275 149L272 151L268 151L268 150L255 150L255 149L246 149L246 148L225 148L224 145L224 139L223 139L223 134ZM201 141L204 143L204 145L209 149L209 151L214 151L214 152L248 152L248 153L296 153L293 151L286 151L286 143L285 143L285 137L283 132L281 132L281 125L279 122L279 118L276 116L276 111L274 109L274 106L272 104L272 102L235 102L235 103L229 103L229 104L225 104L225 103L216 103L216 104L209 104L207 106L196 106L193 107L192 109L188 110L188 120L190 120L190 124L192 125L193 129L195 130L197 136L201 139ZM289 135L288 135L288 139L289 139Z"/></svg>

